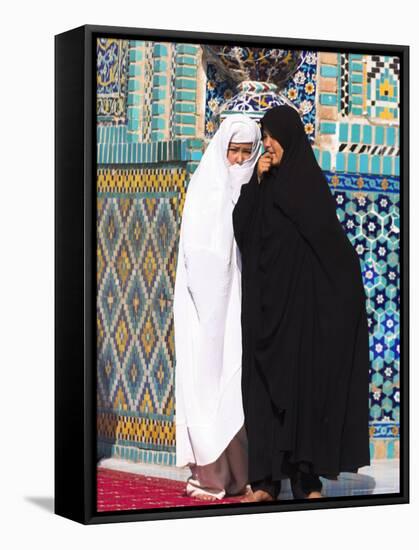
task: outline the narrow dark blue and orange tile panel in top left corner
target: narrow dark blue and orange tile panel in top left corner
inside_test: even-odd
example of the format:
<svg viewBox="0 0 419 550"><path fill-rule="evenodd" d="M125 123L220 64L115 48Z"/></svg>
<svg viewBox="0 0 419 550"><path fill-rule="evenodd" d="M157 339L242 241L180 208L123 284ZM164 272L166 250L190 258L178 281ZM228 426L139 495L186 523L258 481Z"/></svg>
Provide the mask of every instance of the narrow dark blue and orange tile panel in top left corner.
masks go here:
<svg viewBox="0 0 419 550"><path fill-rule="evenodd" d="M97 40L97 120L125 124L128 67L128 41Z"/></svg>

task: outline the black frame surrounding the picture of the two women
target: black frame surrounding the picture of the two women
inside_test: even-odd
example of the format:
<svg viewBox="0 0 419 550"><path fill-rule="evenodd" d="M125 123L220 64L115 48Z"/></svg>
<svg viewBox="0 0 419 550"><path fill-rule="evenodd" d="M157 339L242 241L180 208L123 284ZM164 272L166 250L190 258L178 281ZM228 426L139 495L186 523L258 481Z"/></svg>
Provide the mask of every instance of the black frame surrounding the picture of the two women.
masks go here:
<svg viewBox="0 0 419 550"><path fill-rule="evenodd" d="M400 493L96 511L96 38L400 57ZM84 25L55 36L55 513L84 524L409 502L409 46Z"/></svg>

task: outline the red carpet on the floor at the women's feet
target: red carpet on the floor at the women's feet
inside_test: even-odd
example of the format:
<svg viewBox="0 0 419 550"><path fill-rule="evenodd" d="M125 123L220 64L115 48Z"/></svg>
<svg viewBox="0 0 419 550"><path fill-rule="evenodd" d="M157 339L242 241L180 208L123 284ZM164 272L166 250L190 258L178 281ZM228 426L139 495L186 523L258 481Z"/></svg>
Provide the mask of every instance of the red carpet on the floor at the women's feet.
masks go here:
<svg viewBox="0 0 419 550"><path fill-rule="evenodd" d="M97 511L144 510L174 506L207 506L239 503L242 497L202 501L184 495L185 483L98 468Z"/></svg>

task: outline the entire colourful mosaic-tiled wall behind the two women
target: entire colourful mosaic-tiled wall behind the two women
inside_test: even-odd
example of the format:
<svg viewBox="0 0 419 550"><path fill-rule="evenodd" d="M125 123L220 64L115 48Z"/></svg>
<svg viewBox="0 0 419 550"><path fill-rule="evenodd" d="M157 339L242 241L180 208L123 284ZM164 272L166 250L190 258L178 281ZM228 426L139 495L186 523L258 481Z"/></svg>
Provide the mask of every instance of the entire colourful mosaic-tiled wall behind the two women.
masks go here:
<svg viewBox="0 0 419 550"><path fill-rule="evenodd" d="M104 39L97 51L98 453L174 464L178 230L190 175L236 90L214 66L204 72L198 45ZM398 60L302 55L282 93L301 110L360 258L371 455L397 457Z"/></svg>

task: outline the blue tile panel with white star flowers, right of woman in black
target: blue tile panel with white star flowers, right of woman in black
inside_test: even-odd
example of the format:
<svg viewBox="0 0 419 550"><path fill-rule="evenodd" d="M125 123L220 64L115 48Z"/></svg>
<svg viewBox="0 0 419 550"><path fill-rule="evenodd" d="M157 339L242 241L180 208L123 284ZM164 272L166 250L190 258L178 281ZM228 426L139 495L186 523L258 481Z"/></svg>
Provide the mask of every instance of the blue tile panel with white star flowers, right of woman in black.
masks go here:
<svg viewBox="0 0 419 550"><path fill-rule="evenodd" d="M358 254L367 296L370 420L394 422L385 432L394 437L400 410L399 195L336 188L332 192L337 216Z"/></svg>

